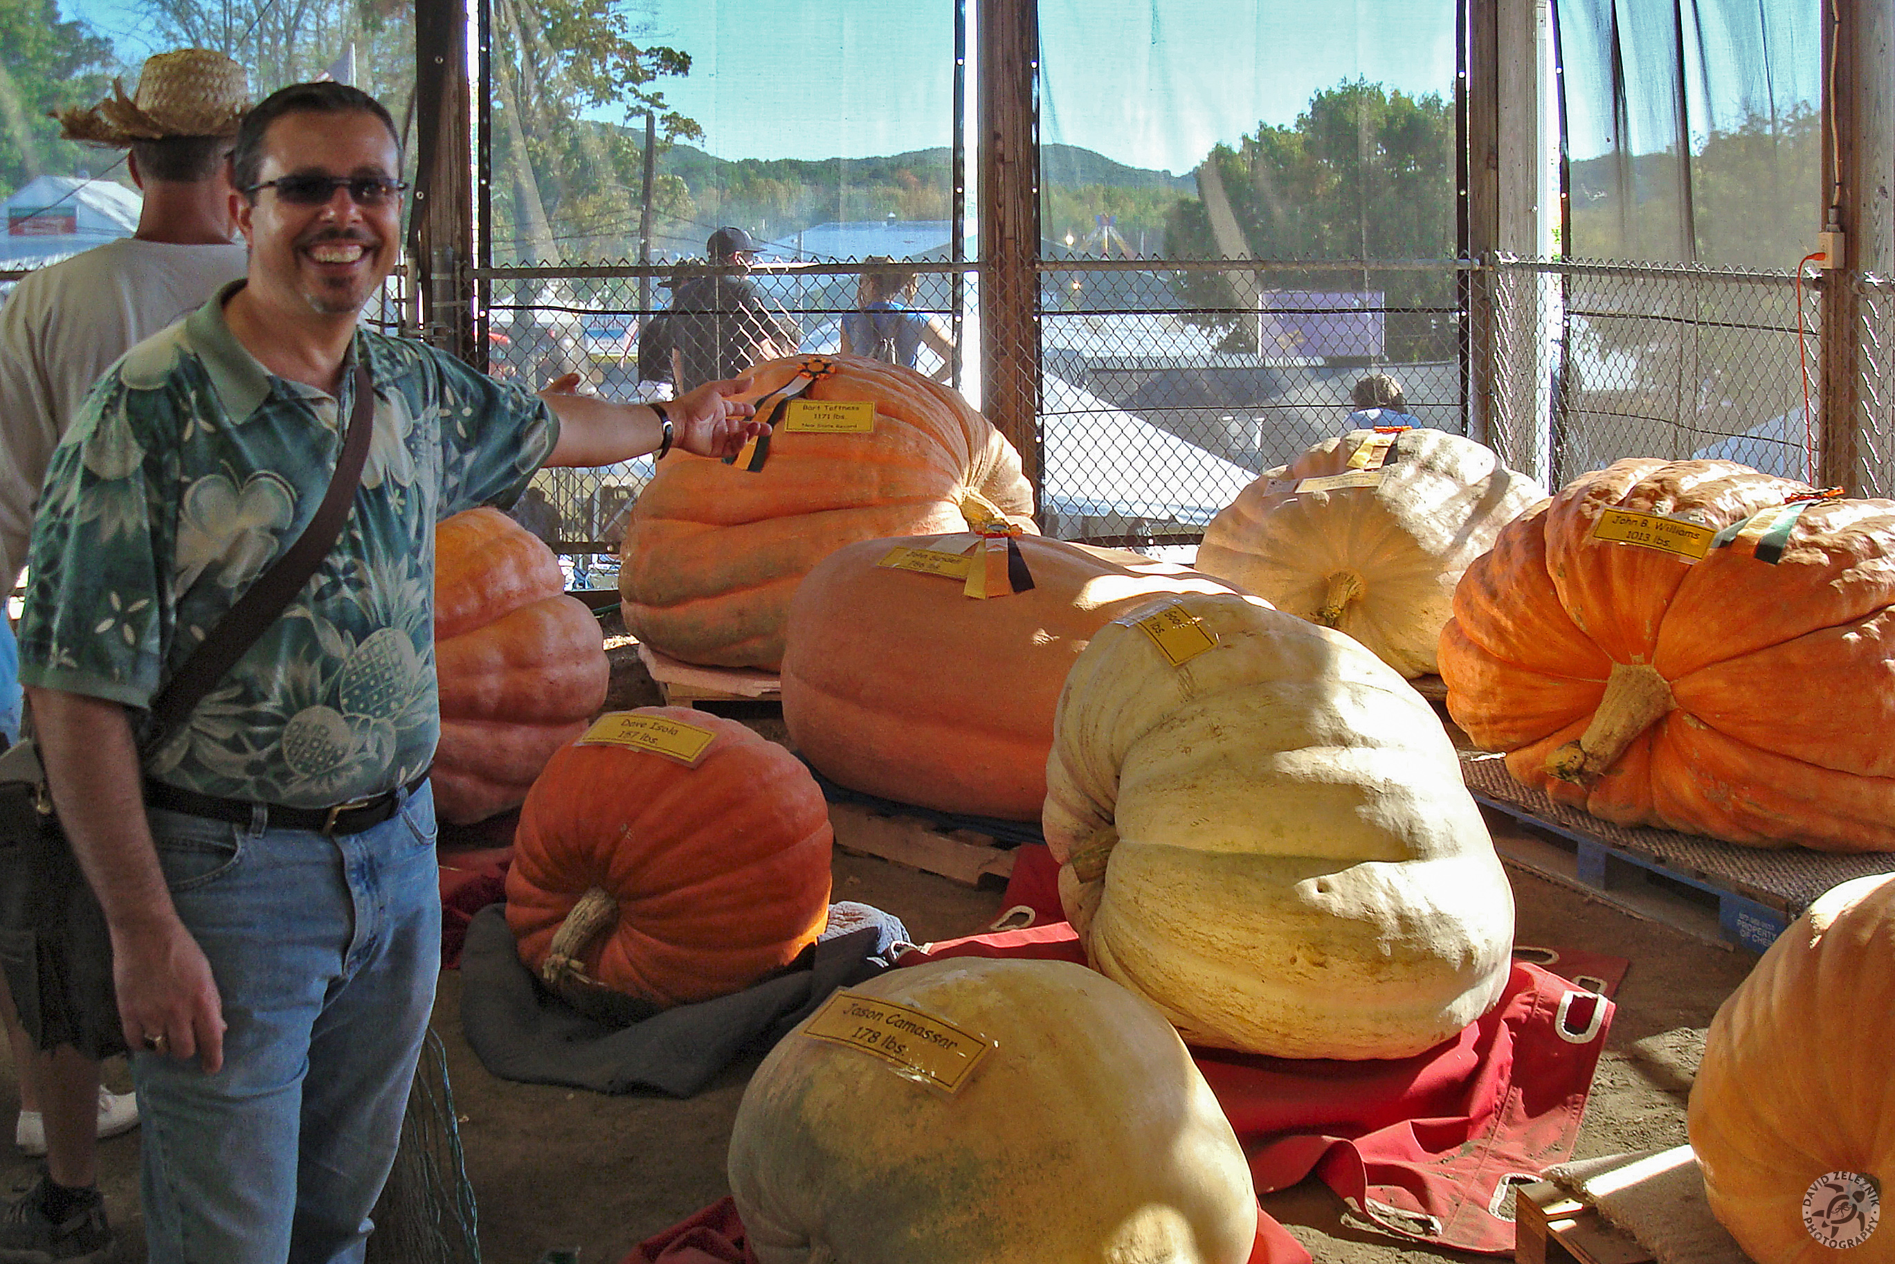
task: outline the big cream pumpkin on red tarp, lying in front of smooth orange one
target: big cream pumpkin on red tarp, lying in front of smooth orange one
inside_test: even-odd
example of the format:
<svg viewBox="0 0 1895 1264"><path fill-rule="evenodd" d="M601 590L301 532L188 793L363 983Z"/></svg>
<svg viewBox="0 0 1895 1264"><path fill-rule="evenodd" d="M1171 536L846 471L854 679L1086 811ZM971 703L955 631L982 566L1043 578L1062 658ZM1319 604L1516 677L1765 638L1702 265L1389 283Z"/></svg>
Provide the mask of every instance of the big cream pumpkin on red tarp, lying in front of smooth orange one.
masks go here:
<svg viewBox="0 0 1895 1264"><path fill-rule="evenodd" d="M1171 665L1129 625L1167 606L1217 646ZM1099 629L1042 822L1092 963L1192 1044L1406 1057L1507 984L1512 891L1440 720L1359 642L1254 597Z"/></svg>

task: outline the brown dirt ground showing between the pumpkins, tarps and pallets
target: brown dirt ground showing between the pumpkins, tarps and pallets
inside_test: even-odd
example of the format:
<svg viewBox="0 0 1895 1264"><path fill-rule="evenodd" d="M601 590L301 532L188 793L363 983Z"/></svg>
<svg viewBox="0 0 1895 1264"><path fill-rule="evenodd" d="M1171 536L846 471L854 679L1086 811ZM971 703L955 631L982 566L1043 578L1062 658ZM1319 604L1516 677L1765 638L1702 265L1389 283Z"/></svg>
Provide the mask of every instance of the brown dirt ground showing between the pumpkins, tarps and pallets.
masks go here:
<svg viewBox="0 0 1895 1264"><path fill-rule="evenodd" d="M608 709L658 701L650 677L625 648L616 648L612 661ZM785 737L767 709L749 711L745 718L766 737ZM1518 944L1632 961L1575 1158L1683 1143L1685 1092L1702 1031L1755 957L1632 917L1533 874L1508 874ZM834 898L898 915L923 944L974 934L1001 912L999 887L976 891L868 857L838 853L834 883ZM536 1264L548 1251L576 1251L580 1264L618 1264L641 1239L730 1192L724 1152L754 1059L730 1067L688 1101L500 1080L460 1035L455 970L442 972L434 1029L447 1048L485 1264ZM123 1065L108 1067L108 1082L127 1086ZM15 1107L17 1078L0 1042L0 1120L13 1118ZM136 1131L100 1143L100 1184L121 1264L144 1260L136 1165ZM0 1141L0 1183L21 1188L32 1175L34 1160ZM1482 1258L1393 1241L1349 1219L1342 1200L1313 1179L1266 1196L1264 1209L1325 1264Z"/></svg>

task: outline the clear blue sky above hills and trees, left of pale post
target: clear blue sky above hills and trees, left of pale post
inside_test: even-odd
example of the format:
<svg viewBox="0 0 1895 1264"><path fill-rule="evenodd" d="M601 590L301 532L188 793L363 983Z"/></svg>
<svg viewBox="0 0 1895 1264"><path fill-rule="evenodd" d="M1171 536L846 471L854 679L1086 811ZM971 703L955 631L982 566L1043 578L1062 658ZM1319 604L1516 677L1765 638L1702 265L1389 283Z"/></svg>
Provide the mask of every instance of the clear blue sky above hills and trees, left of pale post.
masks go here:
<svg viewBox="0 0 1895 1264"><path fill-rule="evenodd" d="M61 0L136 64L135 0ZM951 0L629 0L695 59L665 83L720 157L868 157L951 138ZM1042 136L1175 172L1364 76L1453 85L1452 0L1040 0ZM972 99L972 66L968 97Z"/></svg>

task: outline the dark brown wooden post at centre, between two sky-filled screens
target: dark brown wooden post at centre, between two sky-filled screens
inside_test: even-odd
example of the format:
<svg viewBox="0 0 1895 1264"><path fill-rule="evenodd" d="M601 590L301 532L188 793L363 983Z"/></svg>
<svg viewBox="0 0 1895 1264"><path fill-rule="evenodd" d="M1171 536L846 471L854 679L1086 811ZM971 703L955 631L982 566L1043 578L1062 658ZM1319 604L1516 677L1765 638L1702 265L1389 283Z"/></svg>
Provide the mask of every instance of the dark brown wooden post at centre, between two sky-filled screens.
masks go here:
<svg viewBox="0 0 1895 1264"><path fill-rule="evenodd" d="M976 40L982 411L1020 449L1038 506L1038 8L1033 0L978 0Z"/></svg>

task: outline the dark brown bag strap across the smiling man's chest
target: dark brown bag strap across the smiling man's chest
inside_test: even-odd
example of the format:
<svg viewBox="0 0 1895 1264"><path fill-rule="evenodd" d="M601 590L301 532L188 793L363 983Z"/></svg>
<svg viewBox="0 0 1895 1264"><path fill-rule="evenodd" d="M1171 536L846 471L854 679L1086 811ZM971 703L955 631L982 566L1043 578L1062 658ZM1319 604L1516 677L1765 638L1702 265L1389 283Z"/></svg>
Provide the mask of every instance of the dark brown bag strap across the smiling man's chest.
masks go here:
<svg viewBox="0 0 1895 1264"><path fill-rule="evenodd" d="M296 593L303 591L303 584L316 572L343 533L356 487L362 485L370 432L375 428L375 383L370 379L364 351L356 349L354 409L349 413L349 434L343 436L343 451L335 459L335 476L330 478L322 504L316 506L315 517L303 527L296 544L286 548L271 569L237 599L237 605L218 620L203 644L184 659L178 675L152 699L152 728L144 743L148 750L171 737L203 695L244 656L244 650L256 644L263 629L277 622L277 616L288 608Z"/></svg>

